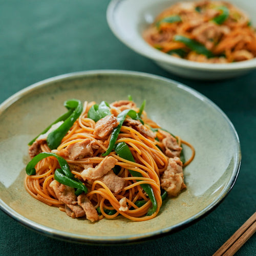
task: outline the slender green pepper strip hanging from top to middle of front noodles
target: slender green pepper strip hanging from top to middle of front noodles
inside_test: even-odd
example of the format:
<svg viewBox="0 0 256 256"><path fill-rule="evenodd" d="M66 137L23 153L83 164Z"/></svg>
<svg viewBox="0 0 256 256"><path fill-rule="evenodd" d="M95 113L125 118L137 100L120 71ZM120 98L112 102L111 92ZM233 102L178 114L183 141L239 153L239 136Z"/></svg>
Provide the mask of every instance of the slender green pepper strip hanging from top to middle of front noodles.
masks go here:
<svg viewBox="0 0 256 256"><path fill-rule="evenodd" d="M127 115L133 119L138 119L138 114L134 110L124 110L117 116L117 121L119 122L119 124L111 134L109 147L107 148L106 152L102 154L103 157L108 156L110 152L113 150L117 137L120 133L121 127Z"/></svg>

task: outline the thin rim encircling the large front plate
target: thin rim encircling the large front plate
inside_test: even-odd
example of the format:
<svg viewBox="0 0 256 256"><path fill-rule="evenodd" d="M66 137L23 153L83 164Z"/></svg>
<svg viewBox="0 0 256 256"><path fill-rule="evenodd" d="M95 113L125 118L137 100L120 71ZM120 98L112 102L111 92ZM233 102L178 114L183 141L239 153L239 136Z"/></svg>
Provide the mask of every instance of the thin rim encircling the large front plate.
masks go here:
<svg viewBox="0 0 256 256"><path fill-rule="evenodd" d="M212 210L214 210L228 195L230 190L232 189L234 183L237 180L237 177L239 175L240 165L241 165L241 146L240 146L240 140L239 136L236 132L236 129L234 128L233 124L229 120L229 118L226 116L226 114L210 99L208 99L206 96L201 94L200 92L197 92L196 90L185 86L184 84L177 82L175 80L165 78L158 75L153 75L150 73L144 73L144 72L137 72L137 71L126 71L126 70L89 70L89 71L79 71L79 72L72 72L67 73L63 75L54 76L51 78L47 78L44 80L41 80L39 82L33 83L31 86L28 86L9 98L7 98L4 102L0 104L0 115L9 108L15 101L19 100L20 98L30 94L34 90L37 90L41 87L45 87L47 84L56 82L56 81L64 81L68 79L75 79L75 78L82 78L84 76L88 75L126 75L126 76L137 76L141 78L149 78L149 79L157 79L162 80L165 82L171 82L178 88L192 94L196 98L203 100L204 102L207 102L217 110L227 121L227 123L230 126L230 132L233 133L234 137L236 138L237 142L237 148L238 152L236 152L236 157L234 159L234 168L232 170L232 175L229 179L229 182L226 184L226 186L223 188L223 191L221 194L212 201L209 205L207 205L205 208L200 210L196 215L193 215L192 217L189 217L188 219L177 223L173 226L168 226L162 229L159 229L157 231L151 231L147 233L137 234L135 235L126 235L123 237L116 237L116 236L110 236L110 237L101 237L101 236L83 236L79 234L69 233L68 231L60 231L54 228L49 228L47 226L38 224L34 221L29 220L28 218L18 214L15 210L13 210L9 205L7 205L1 198L0 198L0 209L2 209L7 215L9 215L11 218L19 222L20 224L28 227L29 229L32 229L34 231L37 231L39 233L45 234L48 237L69 241L69 242L79 242L79 243L86 243L86 244L98 244L98 245L106 245L106 244L127 244L127 243L133 243L138 241L145 241L150 240L153 238L158 238L162 236L166 236L167 234L179 231L181 229L184 229L185 227L194 224L195 222L201 220L206 215L208 215Z"/></svg>

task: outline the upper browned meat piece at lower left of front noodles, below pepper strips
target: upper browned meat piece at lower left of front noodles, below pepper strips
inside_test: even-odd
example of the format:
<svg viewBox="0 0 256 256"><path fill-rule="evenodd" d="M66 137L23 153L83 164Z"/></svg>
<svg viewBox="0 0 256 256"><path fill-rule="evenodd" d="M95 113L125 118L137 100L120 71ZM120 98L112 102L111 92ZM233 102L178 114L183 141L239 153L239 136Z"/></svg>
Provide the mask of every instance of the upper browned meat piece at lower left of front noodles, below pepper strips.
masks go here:
<svg viewBox="0 0 256 256"><path fill-rule="evenodd" d="M54 190L59 201L65 204L76 204L75 189L73 187L60 184L56 180L50 183L50 187Z"/></svg>

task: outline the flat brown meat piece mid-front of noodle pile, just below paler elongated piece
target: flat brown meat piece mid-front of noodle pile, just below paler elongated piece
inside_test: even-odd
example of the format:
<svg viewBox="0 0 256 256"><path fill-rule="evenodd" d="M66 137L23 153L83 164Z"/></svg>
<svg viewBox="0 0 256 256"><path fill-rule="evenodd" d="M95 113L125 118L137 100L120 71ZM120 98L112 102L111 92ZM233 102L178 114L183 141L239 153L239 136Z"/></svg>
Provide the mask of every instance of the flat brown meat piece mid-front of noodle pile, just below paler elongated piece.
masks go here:
<svg viewBox="0 0 256 256"><path fill-rule="evenodd" d="M102 181L115 194L118 194L125 186L125 180L115 175L113 170L110 170L98 180Z"/></svg>

